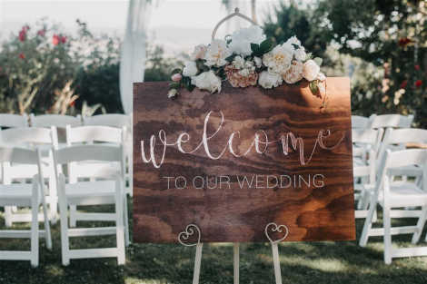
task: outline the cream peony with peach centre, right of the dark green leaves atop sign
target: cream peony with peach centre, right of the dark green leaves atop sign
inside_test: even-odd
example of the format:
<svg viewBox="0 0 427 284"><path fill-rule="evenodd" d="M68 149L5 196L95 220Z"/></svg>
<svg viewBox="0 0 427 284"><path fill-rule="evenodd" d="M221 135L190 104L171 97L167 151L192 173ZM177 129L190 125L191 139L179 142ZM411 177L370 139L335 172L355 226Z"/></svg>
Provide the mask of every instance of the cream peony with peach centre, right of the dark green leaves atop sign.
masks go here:
<svg viewBox="0 0 427 284"><path fill-rule="evenodd" d="M291 66L293 60L293 45L277 45L267 54L263 54L263 64L270 73L283 75Z"/></svg>

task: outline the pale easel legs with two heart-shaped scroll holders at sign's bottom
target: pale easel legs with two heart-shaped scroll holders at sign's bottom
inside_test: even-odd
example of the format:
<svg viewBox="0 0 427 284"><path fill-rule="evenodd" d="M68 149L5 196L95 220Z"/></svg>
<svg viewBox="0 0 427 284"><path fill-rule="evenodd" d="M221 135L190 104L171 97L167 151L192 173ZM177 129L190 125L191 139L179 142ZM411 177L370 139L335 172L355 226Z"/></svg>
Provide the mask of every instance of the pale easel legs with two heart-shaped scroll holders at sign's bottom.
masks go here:
<svg viewBox="0 0 427 284"><path fill-rule="evenodd" d="M269 229L273 232L279 232L283 233L283 237L278 240L273 240L271 236L269 235ZM187 243L185 242L188 240L191 236L194 235L194 233L197 232L197 242L195 243ZM282 273L280 270L280 260L279 260L279 248L278 244L282 240L286 239L289 230L285 225L277 225L276 223L269 223L265 226L265 236L272 244L272 252L273 252L273 267L274 267L274 277L276 280L276 284L282 284ZM203 242L201 242L201 231L199 227L195 224L189 224L184 231L180 232L178 235L178 241L184 245L185 247L194 247L195 246L195 258L194 258L194 272L193 272L193 284L199 284L200 279L200 267L202 264L202 249L204 247ZM239 243L233 242L233 283L239 284L239 262L240 262L240 255L239 255Z"/></svg>

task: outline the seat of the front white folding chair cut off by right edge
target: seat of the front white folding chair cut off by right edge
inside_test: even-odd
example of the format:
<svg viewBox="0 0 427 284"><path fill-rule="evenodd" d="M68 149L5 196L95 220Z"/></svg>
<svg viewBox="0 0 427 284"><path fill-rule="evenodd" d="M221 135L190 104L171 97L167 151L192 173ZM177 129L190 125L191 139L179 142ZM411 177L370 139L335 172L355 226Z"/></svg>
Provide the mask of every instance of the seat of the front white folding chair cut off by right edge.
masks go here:
<svg viewBox="0 0 427 284"><path fill-rule="evenodd" d="M390 187L389 201L392 207L423 206L427 205L427 192L413 182L394 181ZM382 191L380 204L383 205Z"/></svg>

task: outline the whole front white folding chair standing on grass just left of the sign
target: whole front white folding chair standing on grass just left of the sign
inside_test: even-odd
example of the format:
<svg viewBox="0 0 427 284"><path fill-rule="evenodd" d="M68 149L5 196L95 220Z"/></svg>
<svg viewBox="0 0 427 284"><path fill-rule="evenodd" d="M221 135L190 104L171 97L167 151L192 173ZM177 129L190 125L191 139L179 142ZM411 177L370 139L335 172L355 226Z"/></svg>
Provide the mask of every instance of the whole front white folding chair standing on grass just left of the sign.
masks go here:
<svg viewBox="0 0 427 284"><path fill-rule="evenodd" d="M123 161L122 146L76 145L55 151L55 164L70 162L119 162ZM56 167L55 167L56 169ZM94 175L96 178L98 176ZM103 181L69 181L58 176L59 211L61 217L61 247L63 265L71 259L117 258L124 264L124 191L120 172L104 176ZM115 227L69 228L67 213L69 206L114 204ZM115 235L116 247L102 249L70 250L69 238L84 236Z"/></svg>

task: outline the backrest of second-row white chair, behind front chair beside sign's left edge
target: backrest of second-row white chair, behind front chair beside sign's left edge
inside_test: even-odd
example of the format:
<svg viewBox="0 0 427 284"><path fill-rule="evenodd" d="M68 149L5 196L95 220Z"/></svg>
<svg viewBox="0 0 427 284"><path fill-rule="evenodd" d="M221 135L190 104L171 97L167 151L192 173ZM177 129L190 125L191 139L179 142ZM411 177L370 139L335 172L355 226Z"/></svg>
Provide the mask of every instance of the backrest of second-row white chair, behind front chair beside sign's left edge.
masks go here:
<svg viewBox="0 0 427 284"><path fill-rule="evenodd" d="M110 126L66 126L66 144L74 143L110 142L123 144L125 127L115 128Z"/></svg>

